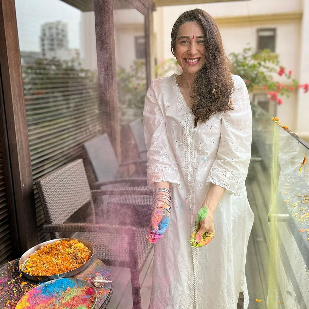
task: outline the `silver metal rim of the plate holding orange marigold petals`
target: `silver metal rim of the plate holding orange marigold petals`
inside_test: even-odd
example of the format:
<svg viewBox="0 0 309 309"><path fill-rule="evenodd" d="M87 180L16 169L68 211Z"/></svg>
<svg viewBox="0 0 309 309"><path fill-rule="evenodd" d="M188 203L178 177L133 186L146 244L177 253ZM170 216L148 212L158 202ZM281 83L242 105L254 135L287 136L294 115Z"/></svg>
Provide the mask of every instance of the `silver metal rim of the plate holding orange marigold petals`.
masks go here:
<svg viewBox="0 0 309 309"><path fill-rule="evenodd" d="M60 273L60 274L53 275L53 276L40 276L40 277L38 277L38 276L29 275L28 273L23 271L22 265L26 263L29 256L31 256L36 251L40 250L43 245L45 245L47 243L53 243L57 240L72 240L72 239L75 239L75 240L79 241L80 243L83 243L91 251L91 256L90 256L89 260L87 260L87 262L85 262L83 265L81 265L81 266L79 266L79 267L77 267L73 270L70 270L66 273ZM36 246L32 247L31 249L29 249L28 251L26 251L21 256L21 258L19 259L18 266L19 266L19 269L21 270L21 273L23 274L23 276L27 277L30 280L33 280L33 281L49 281L49 280L53 280L53 279L64 278L64 277L72 277L72 276L76 275L77 273L81 272L83 269L85 269L91 263L92 257L93 257L93 247L92 247L91 243L88 243L87 241L85 241L83 239L77 239L77 238L58 238L58 239L52 239L52 240L45 241L44 243L39 243L38 245L36 245Z"/></svg>

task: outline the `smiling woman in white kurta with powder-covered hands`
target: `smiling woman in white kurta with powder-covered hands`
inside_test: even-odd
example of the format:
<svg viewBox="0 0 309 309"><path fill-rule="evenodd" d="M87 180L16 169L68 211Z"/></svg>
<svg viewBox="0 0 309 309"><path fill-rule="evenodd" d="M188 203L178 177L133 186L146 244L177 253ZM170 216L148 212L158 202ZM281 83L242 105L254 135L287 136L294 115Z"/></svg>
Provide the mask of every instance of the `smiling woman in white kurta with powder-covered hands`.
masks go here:
<svg viewBox="0 0 309 309"><path fill-rule="evenodd" d="M150 308L236 309L239 292L247 308L254 217L244 185L248 91L229 72L217 25L205 11L180 15L171 50L182 74L155 79L144 107L148 185L155 188Z"/></svg>

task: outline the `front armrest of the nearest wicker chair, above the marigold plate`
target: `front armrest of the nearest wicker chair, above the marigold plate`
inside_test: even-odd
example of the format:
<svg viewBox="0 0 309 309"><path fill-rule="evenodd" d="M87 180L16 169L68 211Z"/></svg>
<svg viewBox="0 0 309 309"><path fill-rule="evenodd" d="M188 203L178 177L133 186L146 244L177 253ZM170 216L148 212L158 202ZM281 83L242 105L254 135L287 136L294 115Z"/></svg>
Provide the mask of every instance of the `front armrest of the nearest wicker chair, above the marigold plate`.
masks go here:
<svg viewBox="0 0 309 309"><path fill-rule="evenodd" d="M135 235L134 226L94 223L45 224L44 232L102 232L108 234Z"/></svg>

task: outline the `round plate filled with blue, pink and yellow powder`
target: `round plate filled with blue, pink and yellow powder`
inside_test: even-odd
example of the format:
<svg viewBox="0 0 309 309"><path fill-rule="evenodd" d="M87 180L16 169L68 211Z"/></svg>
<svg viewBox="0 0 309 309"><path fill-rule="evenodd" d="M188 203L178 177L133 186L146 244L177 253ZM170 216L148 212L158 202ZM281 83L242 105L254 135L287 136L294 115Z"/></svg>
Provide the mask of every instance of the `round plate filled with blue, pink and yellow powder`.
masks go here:
<svg viewBox="0 0 309 309"><path fill-rule="evenodd" d="M60 278L45 282L19 299L16 309L92 309L97 292L89 282L77 278Z"/></svg>

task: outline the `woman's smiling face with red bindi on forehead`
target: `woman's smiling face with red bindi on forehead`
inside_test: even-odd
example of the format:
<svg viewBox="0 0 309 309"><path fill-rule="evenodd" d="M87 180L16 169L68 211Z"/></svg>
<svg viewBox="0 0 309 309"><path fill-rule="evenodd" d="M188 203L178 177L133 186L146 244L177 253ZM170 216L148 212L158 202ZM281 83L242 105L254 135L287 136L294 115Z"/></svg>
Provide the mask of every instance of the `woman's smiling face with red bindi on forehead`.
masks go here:
<svg viewBox="0 0 309 309"><path fill-rule="evenodd" d="M179 27L174 55L183 73L195 74L205 65L205 36L196 21Z"/></svg>

